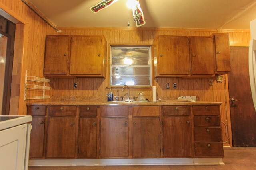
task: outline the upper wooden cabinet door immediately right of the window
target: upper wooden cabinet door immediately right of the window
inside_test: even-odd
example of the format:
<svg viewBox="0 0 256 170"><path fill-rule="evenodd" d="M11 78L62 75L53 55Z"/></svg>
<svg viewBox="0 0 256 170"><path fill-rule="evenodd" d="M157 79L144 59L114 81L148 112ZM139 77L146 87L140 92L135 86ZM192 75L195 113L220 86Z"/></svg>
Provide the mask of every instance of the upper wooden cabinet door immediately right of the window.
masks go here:
<svg viewBox="0 0 256 170"><path fill-rule="evenodd" d="M188 42L188 37L159 37L159 74L190 74Z"/></svg>

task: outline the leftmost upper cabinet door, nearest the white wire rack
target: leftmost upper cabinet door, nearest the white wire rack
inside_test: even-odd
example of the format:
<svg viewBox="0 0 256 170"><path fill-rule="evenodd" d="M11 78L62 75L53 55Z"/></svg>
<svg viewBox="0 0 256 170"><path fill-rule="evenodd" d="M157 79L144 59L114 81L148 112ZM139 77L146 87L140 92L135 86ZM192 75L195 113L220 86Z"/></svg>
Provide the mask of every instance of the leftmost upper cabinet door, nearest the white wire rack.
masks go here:
<svg viewBox="0 0 256 170"><path fill-rule="evenodd" d="M44 74L67 74L68 36L46 36Z"/></svg>

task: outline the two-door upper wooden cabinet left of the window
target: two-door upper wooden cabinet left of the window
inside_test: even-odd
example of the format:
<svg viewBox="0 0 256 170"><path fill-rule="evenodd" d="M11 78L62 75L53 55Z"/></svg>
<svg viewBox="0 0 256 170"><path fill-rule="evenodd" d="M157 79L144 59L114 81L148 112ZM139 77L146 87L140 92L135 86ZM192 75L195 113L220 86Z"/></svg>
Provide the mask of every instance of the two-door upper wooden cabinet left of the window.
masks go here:
<svg viewBox="0 0 256 170"><path fill-rule="evenodd" d="M44 74L106 77L103 35L47 35Z"/></svg>

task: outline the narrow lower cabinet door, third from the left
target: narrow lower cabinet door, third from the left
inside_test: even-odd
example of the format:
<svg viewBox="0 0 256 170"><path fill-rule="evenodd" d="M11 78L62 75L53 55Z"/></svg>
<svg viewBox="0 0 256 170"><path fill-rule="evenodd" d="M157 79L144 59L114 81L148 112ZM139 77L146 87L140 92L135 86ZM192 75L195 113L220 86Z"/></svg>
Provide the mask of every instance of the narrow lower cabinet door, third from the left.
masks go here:
<svg viewBox="0 0 256 170"><path fill-rule="evenodd" d="M97 156L97 118L80 118L79 158Z"/></svg>

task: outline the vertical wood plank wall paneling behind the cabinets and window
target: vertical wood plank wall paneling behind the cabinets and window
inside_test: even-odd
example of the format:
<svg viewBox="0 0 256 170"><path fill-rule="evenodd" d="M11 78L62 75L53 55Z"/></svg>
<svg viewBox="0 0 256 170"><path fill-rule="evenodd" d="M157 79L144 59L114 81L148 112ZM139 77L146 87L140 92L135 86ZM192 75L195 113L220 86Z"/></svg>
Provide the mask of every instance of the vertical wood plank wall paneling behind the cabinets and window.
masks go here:
<svg viewBox="0 0 256 170"><path fill-rule="evenodd" d="M152 44L156 35L182 35L182 36L210 36L212 33L229 33L230 45L232 46L248 46L250 40L250 30L219 30L219 29L169 29L169 28L64 28L60 27L61 33L57 33L52 27L45 23L37 16L28 6L21 0L0 0L0 5L10 9L10 13L20 16L28 23L24 25L24 44L22 47L23 58L21 68L20 81L20 115L26 114L27 102L42 102L44 100L22 101L24 96L24 74L28 68L28 76L43 76L44 65L44 47L45 37L48 34L61 35L104 35L108 44ZM109 53L109 47L108 47ZM52 87L47 94L52 98L64 97L74 98L76 96L100 96L106 97L106 87L108 86L108 78L51 78ZM78 88L74 89L73 82L78 82ZM168 82L172 86L176 82L178 88L165 89L165 83ZM214 78L213 86L209 86L209 78L204 79L181 79L181 78L157 78L154 79L154 85L157 86L157 93L160 97L194 95L200 100L222 102L221 119L223 138L226 145L232 144L229 102L228 96L228 80L224 76L224 82L217 83ZM121 92L118 89L119 95ZM132 89L130 96L137 96L138 92L145 92L145 96L152 96L151 89ZM114 94L116 90L114 91ZM29 91L29 95L38 94L38 92ZM47 101L47 100L46 100ZM48 100L50 101L50 100ZM227 106L227 107L226 107ZM17 106L18 107L18 106ZM226 109L228 108L228 109Z"/></svg>

